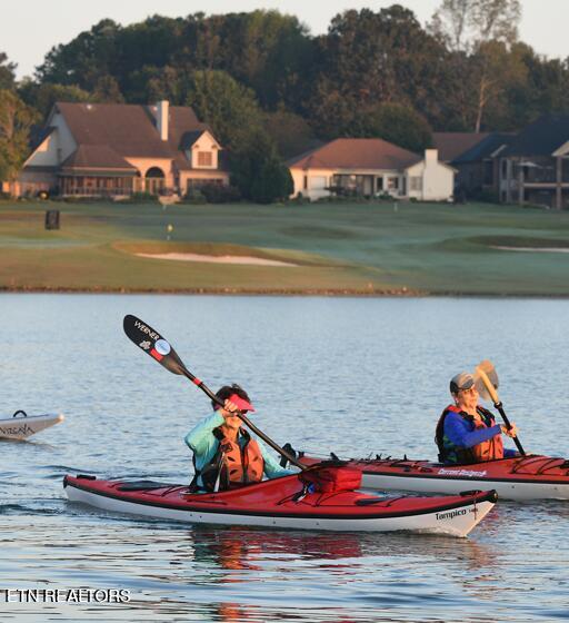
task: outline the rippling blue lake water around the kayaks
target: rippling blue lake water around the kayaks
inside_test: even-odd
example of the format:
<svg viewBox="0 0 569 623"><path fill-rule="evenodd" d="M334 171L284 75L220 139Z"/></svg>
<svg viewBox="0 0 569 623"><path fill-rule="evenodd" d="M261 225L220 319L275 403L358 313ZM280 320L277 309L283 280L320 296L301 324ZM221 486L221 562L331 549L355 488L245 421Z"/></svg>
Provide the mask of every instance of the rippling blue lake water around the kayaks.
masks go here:
<svg viewBox="0 0 569 623"><path fill-rule="evenodd" d="M527 451L569 455L569 301L0 295L2 413L61 412L0 443L0 620L551 621L569 617L569 503L499 503L469 538L193 527L71 505L66 473L186 482L206 396L122 333L134 314L276 441L435 458L449 378L490 358ZM8 589L129 603L6 603Z"/></svg>

